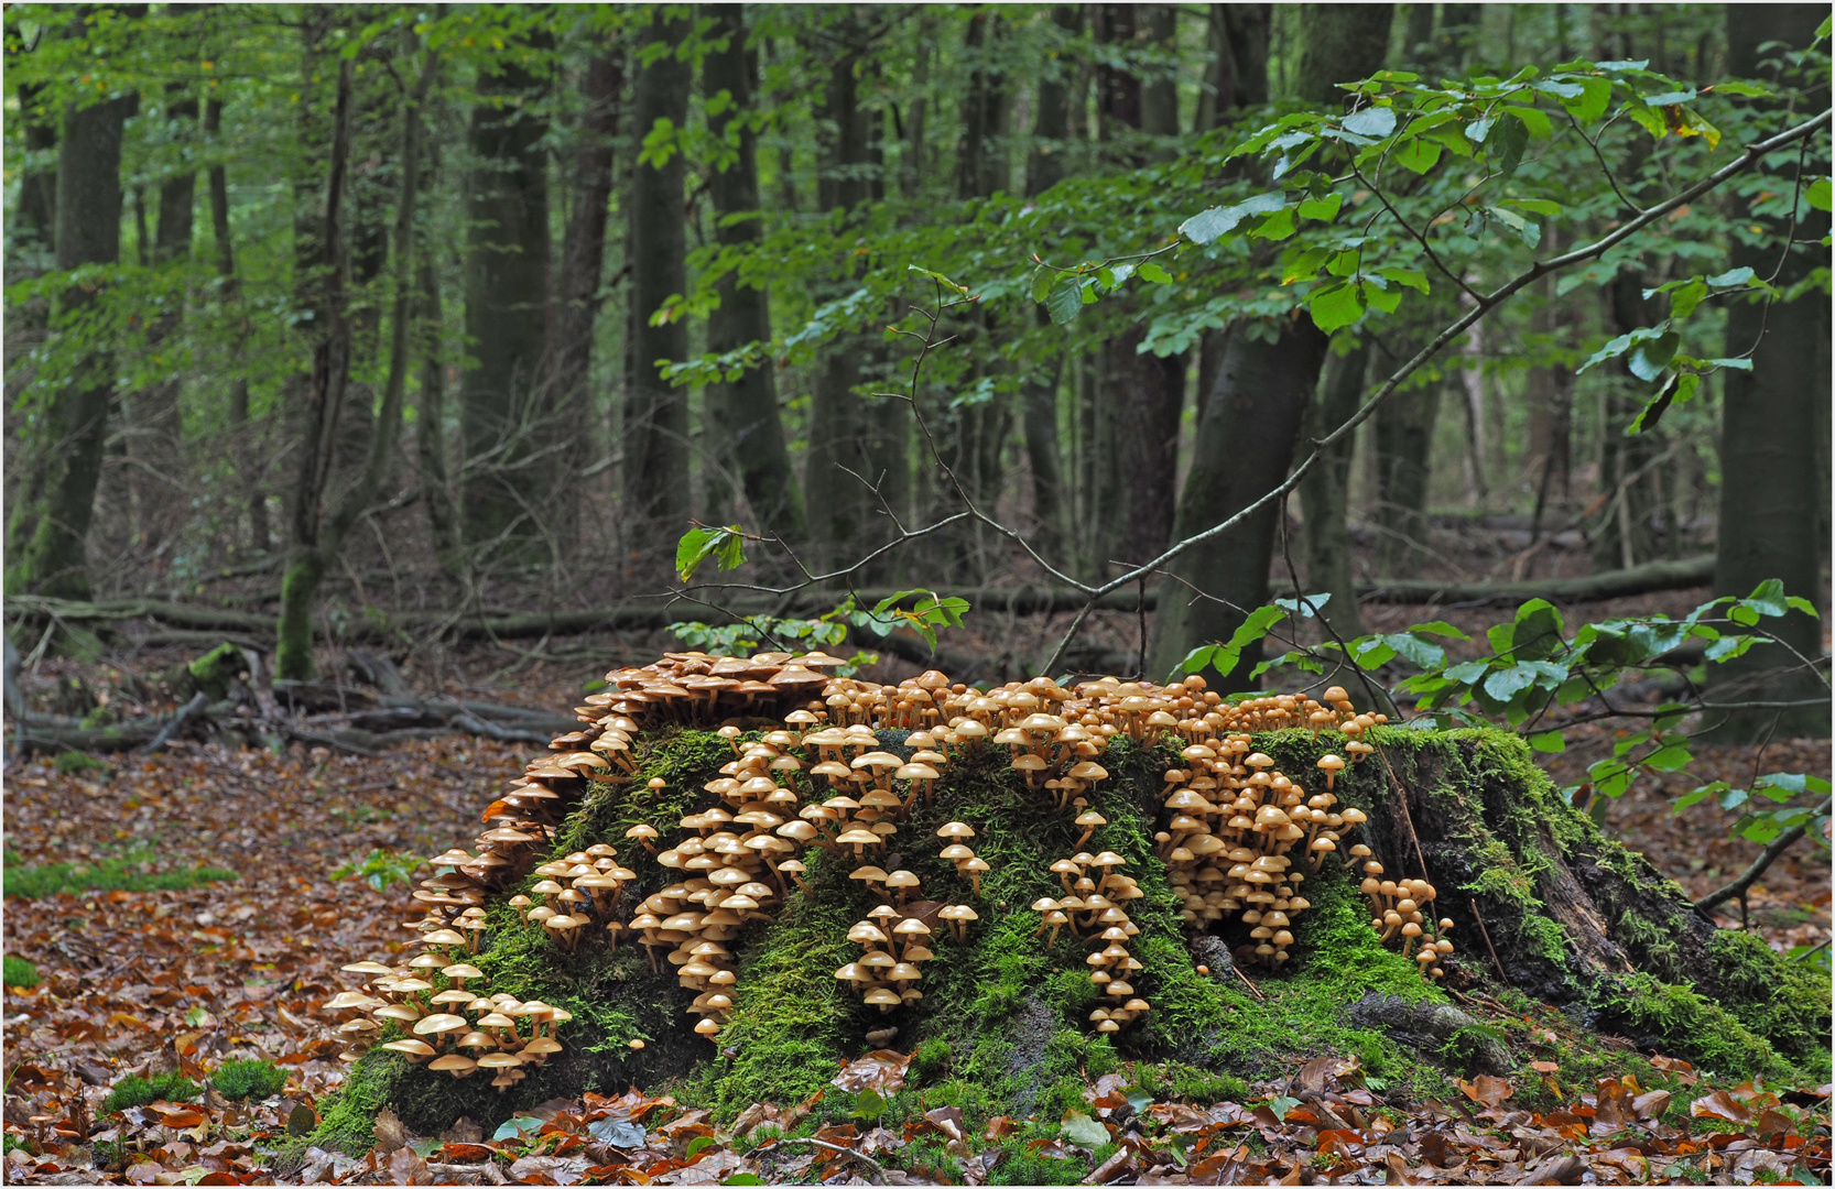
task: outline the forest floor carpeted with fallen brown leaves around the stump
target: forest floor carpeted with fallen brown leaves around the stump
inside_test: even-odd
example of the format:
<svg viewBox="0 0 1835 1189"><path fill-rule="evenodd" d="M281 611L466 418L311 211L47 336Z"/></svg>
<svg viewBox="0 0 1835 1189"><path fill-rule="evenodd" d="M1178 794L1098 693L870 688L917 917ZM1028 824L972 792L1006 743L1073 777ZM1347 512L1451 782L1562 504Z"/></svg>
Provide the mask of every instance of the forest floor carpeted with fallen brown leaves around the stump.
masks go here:
<svg viewBox="0 0 1835 1189"><path fill-rule="evenodd" d="M1696 600L1685 593L1659 602L1686 607ZM1468 629L1497 618L1486 609L1435 615ZM1384 626L1424 618L1417 607L1374 607L1369 617ZM1125 629L1125 622L1107 628L1118 637ZM562 710L617 653L639 655L655 644L662 640L626 639L602 648L595 662L582 659L582 642L534 661L475 650L451 659L439 692L477 695L488 686L494 701ZM976 644L973 635L952 639L963 651ZM143 655L136 666L150 672L156 662ZM903 668L888 662L883 677L906 675ZM50 699L70 677L94 694L130 697L121 668L108 664L46 661L24 684L28 695ZM1609 734L1598 730L1604 747ZM413 861L406 855L464 844L488 793L517 774L534 750L451 736L365 758L301 745L273 754L180 739L152 758L11 761L4 804L7 983L18 976L13 960L33 963L40 982L6 991L4 1180L277 1180L279 1149L312 1128L317 1105L341 1081L341 1046L319 1011L347 983L338 967L402 945L411 884L389 881L407 877ZM1596 750L1574 738L1549 767L1560 783L1573 783ZM1730 822L1712 802L1675 815L1668 798L1696 782L1743 785L1769 771L1826 774L1829 743L1697 749L1690 772L1640 780L1611 804L1607 829L1701 895L1743 870L1758 848L1729 839ZM349 868L360 875L339 877ZM389 886L378 890L361 873ZM1828 853L1804 844L1785 855L1752 890L1749 910L1747 927L1774 949L1826 943ZM1729 906L1721 925L1740 927L1738 916ZM1508 1015L1483 996L1464 1006L1481 1018ZM1547 1026L1569 1028L1558 1015ZM228 1101L207 1086L202 1101L176 1101L184 1086L172 1079L160 1083L163 1097L110 1110L110 1095L119 1105L119 1083L130 1075L176 1073L204 1083L222 1062L246 1057L275 1062L284 1086L251 1101ZM1551 1064L1453 1083L1459 1094L1448 1101L1400 1108L1373 1097L1354 1064L1334 1059L1308 1064L1297 1081L1251 1086L1239 1103L1130 1103L1123 1083L1103 1079L1086 1095L1088 1114L1121 1147L1097 1160L1103 1141L1079 1123L1037 1154L1073 1161L1072 1180L1088 1174L1095 1183L1818 1183L1829 1176L1828 1086L1701 1083L1688 1090L1690 1110L1679 1112L1666 1110L1668 1092L1655 1092L1664 1095L1657 1101L1635 1081L1563 1083ZM1670 1068L1692 1084L1686 1064ZM873 1072L894 1083L897 1075L895 1068ZM1512 1106L1512 1095L1541 1101L1543 1086L1563 1110ZM1305 1105L1292 1097L1297 1092L1305 1092ZM314 1149L284 1178L751 1183L743 1180L751 1172L763 1180L927 1183L943 1174L899 1152L929 1139L930 1149L947 1141L958 1158L954 1176L1004 1180L987 1165L998 1119L987 1134L963 1134L952 1108L929 1112L903 1134L862 1121L859 1132L822 1132L818 1139L826 1136L833 1150L747 1141L778 1106L796 1105L762 1105L741 1116L743 1127L721 1132L705 1112L637 1094L547 1103L521 1132L497 1136L461 1121L446 1136L418 1138L384 1116L367 1158ZM110 1158L119 1171L105 1171Z"/></svg>

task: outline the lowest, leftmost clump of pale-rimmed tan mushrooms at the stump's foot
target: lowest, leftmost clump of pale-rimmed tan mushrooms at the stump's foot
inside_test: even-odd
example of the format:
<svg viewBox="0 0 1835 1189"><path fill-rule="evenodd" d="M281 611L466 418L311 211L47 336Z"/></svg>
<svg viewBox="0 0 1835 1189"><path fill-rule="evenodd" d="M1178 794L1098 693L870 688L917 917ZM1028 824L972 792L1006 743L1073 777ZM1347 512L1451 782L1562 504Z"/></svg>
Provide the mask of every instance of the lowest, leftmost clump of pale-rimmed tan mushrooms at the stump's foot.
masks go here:
<svg viewBox="0 0 1835 1189"><path fill-rule="evenodd" d="M323 1004L325 1011L345 1017L338 1026L338 1037L347 1046L341 1061L360 1059L395 1026L406 1035L385 1040L382 1048L451 1077L486 1070L490 1084L501 1094L528 1077L530 1066L562 1051L554 1033L573 1018L565 1009L539 1000L521 1004L503 993L486 996L477 985L484 972L464 958L477 949L483 908L466 912L477 912L475 917L461 917L477 923L479 928L470 934L446 928L439 916L409 925L420 934L420 952L402 967L382 961L343 967L361 974L363 985ZM527 1024L527 1033L521 1024Z"/></svg>

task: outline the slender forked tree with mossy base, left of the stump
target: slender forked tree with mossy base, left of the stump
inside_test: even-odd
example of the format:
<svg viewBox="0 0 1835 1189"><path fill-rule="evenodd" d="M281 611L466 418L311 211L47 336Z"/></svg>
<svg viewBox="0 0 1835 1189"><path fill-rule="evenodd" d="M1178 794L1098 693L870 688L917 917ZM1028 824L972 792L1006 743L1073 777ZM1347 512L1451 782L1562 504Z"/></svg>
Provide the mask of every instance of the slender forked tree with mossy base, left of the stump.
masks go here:
<svg viewBox="0 0 1835 1189"><path fill-rule="evenodd" d="M294 510L294 541L288 549L286 578L281 583L281 629L275 650L275 675L305 679L312 675L312 615L317 604L317 587L325 572L338 563L345 536L358 517L374 501L389 464L395 461L396 439L402 426L402 402L407 391L407 365L415 327L415 207L420 200L420 110L439 57L428 53L420 66L420 79L415 92L402 103L402 165L400 194L396 198L395 218L395 308L391 312L389 372L384 382L382 406L376 411L374 435L369 440L369 455L356 481L345 488L332 508L330 517L323 517L323 497L327 483L321 479L310 490L301 484L299 505ZM350 61L345 59L338 77L338 130L332 138L330 191L325 204L327 250L330 251L332 281L328 288L330 319L325 345L314 358L314 411L323 420L338 407L338 372L350 365L350 323L345 317L345 281L349 259L343 250L343 196L350 150ZM341 358L339 358L341 356ZM332 455L336 426L330 433L316 437L316 451L305 451L303 462ZM308 440L308 446L314 444ZM301 468L305 472L305 466Z"/></svg>

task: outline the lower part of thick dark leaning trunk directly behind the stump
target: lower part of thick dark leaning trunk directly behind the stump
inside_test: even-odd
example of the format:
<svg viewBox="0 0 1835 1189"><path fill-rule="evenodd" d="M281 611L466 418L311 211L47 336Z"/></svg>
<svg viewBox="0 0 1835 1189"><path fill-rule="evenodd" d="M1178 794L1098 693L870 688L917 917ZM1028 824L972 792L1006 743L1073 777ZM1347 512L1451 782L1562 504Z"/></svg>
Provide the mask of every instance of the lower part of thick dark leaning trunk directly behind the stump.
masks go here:
<svg viewBox="0 0 1835 1189"><path fill-rule="evenodd" d="M1266 338L1246 328L1229 336L1217 389L1204 406L1191 473L1178 503L1173 539L1228 519L1286 479L1294 442L1312 404L1327 338L1310 319L1283 321ZM1242 525L1185 550L1160 587L1147 673L1163 677L1198 644L1228 640L1248 609L1268 602L1268 563L1279 505ZM1251 655L1253 653L1253 655ZM1215 688L1250 688L1261 648L1244 650L1242 662L1222 677L1207 672Z"/></svg>

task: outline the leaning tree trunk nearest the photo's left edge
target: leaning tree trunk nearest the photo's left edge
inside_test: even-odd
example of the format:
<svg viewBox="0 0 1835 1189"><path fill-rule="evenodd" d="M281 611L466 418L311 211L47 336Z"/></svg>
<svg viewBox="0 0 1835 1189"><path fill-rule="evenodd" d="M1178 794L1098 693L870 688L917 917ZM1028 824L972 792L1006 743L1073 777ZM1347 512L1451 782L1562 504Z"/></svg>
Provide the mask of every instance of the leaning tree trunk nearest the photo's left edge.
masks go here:
<svg viewBox="0 0 1835 1189"><path fill-rule="evenodd" d="M64 112L57 154L57 268L114 264L121 257L121 132L134 95ZM59 299L66 314L94 305L94 288L72 286ZM35 394L26 440L26 473L7 525L9 593L88 598L84 543L95 508L114 356L95 349L70 383Z"/></svg>

